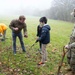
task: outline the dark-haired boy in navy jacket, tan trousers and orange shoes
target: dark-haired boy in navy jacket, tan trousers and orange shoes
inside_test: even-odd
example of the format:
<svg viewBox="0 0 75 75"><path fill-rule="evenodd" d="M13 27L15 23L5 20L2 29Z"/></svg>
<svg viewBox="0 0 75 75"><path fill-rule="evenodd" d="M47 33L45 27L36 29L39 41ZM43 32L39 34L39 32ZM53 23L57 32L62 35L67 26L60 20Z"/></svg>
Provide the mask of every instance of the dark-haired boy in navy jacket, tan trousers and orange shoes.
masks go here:
<svg viewBox="0 0 75 75"><path fill-rule="evenodd" d="M47 18L46 17L41 17L40 20L40 25L42 25L42 32L41 36L37 38L36 42L40 41L42 43L42 59L41 62L38 63L38 65L45 64L47 61L47 51L46 51L46 46L50 42L50 26L47 24Z"/></svg>

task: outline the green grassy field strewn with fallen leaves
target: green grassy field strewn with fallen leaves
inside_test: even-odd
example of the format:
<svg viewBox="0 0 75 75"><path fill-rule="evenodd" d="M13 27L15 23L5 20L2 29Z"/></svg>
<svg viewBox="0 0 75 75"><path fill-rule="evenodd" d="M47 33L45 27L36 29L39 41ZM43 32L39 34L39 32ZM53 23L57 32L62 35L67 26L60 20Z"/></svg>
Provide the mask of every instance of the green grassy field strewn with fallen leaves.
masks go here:
<svg viewBox="0 0 75 75"><path fill-rule="evenodd" d="M12 18L1 18L0 22L9 26ZM36 28L39 24L39 18L27 17L28 38L23 38L27 52L23 53L19 40L17 39L17 55L13 55L11 30L8 28L5 42L0 42L0 75L56 75L59 62L62 57L63 46L68 44L69 36L73 29L73 24L64 21L48 20L51 26L51 43L47 46L48 62L45 66L37 66L41 60L41 54L37 53L38 43L31 45L36 39ZM68 67L65 57L64 65L61 69L65 72Z"/></svg>

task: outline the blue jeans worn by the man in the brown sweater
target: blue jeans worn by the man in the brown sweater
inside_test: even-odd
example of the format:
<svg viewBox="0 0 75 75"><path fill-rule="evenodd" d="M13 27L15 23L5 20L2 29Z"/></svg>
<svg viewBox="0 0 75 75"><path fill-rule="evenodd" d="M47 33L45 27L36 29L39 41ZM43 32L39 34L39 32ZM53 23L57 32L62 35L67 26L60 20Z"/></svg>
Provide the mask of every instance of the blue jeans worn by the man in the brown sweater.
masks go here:
<svg viewBox="0 0 75 75"><path fill-rule="evenodd" d="M19 33L12 32L14 54L16 54L16 37L19 38L22 50L23 50L23 52L25 52L26 50L25 50L24 43L23 43L22 33L21 32L19 32Z"/></svg>

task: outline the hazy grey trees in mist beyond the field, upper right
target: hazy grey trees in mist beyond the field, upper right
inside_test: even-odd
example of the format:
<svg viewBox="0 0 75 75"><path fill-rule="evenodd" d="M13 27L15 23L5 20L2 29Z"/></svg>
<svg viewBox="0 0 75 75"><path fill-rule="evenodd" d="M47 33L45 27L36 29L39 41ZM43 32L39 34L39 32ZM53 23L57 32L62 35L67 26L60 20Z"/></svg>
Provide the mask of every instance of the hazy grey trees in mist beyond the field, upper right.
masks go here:
<svg viewBox="0 0 75 75"><path fill-rule="evenodd" d="M70 15L75 8L75 0L53 0L52 7L48 10L47 17L52 19L71 21L73 17Z"/></svg>

